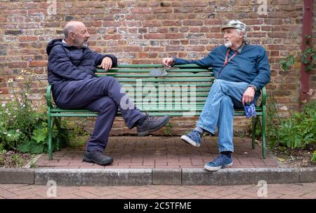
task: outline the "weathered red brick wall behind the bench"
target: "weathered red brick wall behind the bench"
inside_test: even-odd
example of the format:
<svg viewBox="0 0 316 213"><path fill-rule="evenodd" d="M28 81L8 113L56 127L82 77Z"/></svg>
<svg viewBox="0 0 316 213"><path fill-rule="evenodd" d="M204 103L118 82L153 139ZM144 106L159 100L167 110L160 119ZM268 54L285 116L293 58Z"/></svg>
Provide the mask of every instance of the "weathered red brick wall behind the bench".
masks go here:
<svg viewBox="0 0 316 213"><path fill-rule="evenodd" d="M2 0L0 4L0 99L8 99L11 88L6 81L18 70L32 69L46 83L46 43L61 38L62 27L69 20L86 24L91 34L91 48L113 53L119 63L160 63L162 57L201 58L223 43L220 26L239 19L249 27L249 43L268 50L274 92L281 111L295 110L298 104L300 63L288 74L279 68L279 60L301 53L303 0L267 1L267 13L259 14L257 0L230 1L26 1ZM314 1L314 8L316 2ZM55 9L55 11L54 11ZM259 11L260 8L259 8ZM315 11L315 10L314 10ZM315 19L313 20L315 32ZM315 90L315 71L312 89ZM34 99L44 103L44 88L34 82ZM173 121L175 132L189 125ZM195 124L195 119L189 122ZM239 119L242 128L249 121ZM121 130L114 124L113 132Z"/></svg>

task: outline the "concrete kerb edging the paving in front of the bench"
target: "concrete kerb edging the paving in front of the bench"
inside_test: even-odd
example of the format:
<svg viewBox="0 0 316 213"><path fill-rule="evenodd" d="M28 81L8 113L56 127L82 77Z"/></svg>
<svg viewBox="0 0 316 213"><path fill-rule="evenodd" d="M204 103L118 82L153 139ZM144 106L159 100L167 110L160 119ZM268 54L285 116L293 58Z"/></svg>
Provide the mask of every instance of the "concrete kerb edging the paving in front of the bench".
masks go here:
<svg viewBox="0 0 316 213"><path fill-rule="evenodd" d="M217 172L204 169L5 169L0 184L46 185L53 180L61 186L119 185L240 185L290 184L316 181L316 167L227 168Z"/></svg>

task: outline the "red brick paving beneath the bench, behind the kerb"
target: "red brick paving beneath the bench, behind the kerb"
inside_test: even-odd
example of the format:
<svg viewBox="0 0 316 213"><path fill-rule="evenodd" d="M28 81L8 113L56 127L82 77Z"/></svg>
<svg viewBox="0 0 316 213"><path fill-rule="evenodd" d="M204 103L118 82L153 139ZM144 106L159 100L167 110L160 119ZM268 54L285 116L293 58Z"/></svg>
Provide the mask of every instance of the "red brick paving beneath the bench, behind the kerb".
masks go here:
<svg viewBox="0 0 316 213"><path fill-rule="evenodd" d="M67 148L53 153L53 160L44 155L38 167L49 168L202 168L218 155L216 137L204 137L199 148L182 142L179 137L110 137L106 154L114 158L106 167L82 162L84 148ZM251 149L251 139L235 138L235 168L278 167L282 163L267 155L261 147Z"/></svg>

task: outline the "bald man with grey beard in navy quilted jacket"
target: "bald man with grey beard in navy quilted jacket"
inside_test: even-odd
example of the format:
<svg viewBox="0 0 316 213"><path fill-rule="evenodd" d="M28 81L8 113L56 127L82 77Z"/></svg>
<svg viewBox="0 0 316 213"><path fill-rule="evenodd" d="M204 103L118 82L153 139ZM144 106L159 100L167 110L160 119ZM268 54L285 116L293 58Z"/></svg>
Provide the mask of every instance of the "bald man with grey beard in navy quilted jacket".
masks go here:
<svg viewBox="0 0 316 213"><path fill-rule="evenodd" d="M128 128L137 127L139 136L159 130L168 123L169 116L156 118L141 113L126 93L121 92L121 85L115 78L94 76L99 65L106 70L116 67L117 57L101 55L88 48L90 35L84 23L68 22L64 33L65 39L54 39L46 48L48 82L52 85L55 104L64 109L88 109L99 113L86 145L84 161L110 164L113 158L105 156L103 151L118 110Z"/></svg>

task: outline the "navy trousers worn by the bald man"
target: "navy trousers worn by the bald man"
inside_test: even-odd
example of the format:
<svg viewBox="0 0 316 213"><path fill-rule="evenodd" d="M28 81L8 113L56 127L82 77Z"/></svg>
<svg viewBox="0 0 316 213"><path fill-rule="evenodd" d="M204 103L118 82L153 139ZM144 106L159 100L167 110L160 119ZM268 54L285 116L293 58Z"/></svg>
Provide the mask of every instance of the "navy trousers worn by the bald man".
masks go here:
<svg viewBox="0 0 316 213"><path fill-rule="evenodd" d="M117 79L111 76L69 81L58 91L58 94L58 97L55 97L58 107L88 109L99 113L95 128L86 146L87 151L105 149L118 110L121 112L126 126L130 129L145 116L121 90Z"/></svg>

